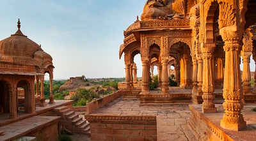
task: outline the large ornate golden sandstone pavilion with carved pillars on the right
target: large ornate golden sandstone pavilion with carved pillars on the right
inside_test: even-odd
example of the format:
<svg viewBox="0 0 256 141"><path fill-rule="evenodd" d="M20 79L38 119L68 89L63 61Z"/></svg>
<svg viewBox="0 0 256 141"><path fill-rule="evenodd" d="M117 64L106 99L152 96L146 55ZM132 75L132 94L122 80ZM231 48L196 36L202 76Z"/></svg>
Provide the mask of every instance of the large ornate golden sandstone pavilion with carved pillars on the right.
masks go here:
<svg viewBox="0 0 256 141"><path fill-rule="evenodd" d="M234 131L246 128L241 110L244 103L256 101L256 85L251 85L250 73L251 57L256 61L255 5L252 0L147 0L141 20L137 17L124 31L120 46L125 83L118 88L124 89L124 98L140 100L140 105L187 101L202 104L202 113L216 113L215 104L221 103L225 112L220 126ZM132 80L137 54L141 58L142 82ZM154 66L159 88L150 91L150 68ZM170 66L175 68L179 91L191 89L191 93L170 91ZM190 105L195 121L191 122L192 128L203 119L196 119L195 107Z"/></svg>

